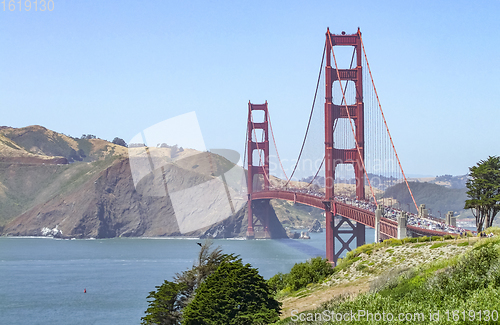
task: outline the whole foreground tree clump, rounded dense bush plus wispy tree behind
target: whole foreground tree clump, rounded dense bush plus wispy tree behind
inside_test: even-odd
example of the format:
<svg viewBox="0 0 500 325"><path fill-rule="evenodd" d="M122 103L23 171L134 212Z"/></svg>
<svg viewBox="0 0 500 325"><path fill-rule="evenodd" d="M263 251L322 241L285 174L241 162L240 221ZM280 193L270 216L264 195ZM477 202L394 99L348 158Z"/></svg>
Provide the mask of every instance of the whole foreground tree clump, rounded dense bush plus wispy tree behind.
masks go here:
<svg viewBox="0 0 500 325"><path fill-rule="evenodd" d="M193 268L164 281L148 296L144 325L269 324L281 304L258 271L211 242L201 245Z"/></svg>

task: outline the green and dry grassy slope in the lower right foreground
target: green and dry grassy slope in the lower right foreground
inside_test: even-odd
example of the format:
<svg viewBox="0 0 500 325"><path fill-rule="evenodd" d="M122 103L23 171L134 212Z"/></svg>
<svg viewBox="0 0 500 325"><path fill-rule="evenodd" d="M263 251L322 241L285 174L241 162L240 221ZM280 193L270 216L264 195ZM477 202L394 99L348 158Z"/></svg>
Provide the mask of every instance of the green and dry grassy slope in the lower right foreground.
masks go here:
<svg viewBox="0 0 500 325"><path fill-rule="evenodd" d="M392 240L359 247L339 262L337 271L326 283L310 285L282 297L283 316L287 318L279 324L320 323L293 322L288 316L294 309L311 315L325 310L327 313L367 310L394 315L417 312L427 317L422 324L453 323L443 319L446 310L498 310L500 229L495 232L497 236L491 239L467 238L403 245ZM409 261L418 263L412 265ZM349 280L344 281L346 277ZM370 292L367 292L368 289ZM441 311L441 321L429 322L429 313L438 310ZM343 323L385 322L358 319Z"/></svg>

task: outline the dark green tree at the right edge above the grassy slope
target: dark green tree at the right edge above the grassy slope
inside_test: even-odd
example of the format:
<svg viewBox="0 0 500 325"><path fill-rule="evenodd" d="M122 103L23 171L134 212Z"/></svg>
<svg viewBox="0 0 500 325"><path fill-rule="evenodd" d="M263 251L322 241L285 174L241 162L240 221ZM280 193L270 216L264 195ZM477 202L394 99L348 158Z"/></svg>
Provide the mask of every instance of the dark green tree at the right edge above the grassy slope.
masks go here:
<svg viewBox="0 0 500 325"><path fill-rule="evenodd" d="M477 231L493 225L500 211L500 157L490 156L469 168L465 209L472 209Z"/></svg>

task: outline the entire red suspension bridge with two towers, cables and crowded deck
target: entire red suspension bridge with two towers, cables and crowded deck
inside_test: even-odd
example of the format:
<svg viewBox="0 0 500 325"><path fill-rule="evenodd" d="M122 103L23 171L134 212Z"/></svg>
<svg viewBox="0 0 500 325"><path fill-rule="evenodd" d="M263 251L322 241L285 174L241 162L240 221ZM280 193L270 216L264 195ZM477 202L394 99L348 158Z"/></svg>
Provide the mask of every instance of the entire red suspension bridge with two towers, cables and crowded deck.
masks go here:
<svg viewBox="0 0 500 325"><path fill-rule="evenodd" d="M338 48L352 49L349 68L339 68L337 59L345 51ZM323 88L320 87L322 82L323 110L318 108L320 105L316 100ZM261 120L254 120L254 115L259 112ZM324 124L324 139L321 144L319 139L311 144L315 130L323 129L323 126L314 125L318 116ZM273 146L270 146L270 141ZM270 199L292 201L325 211L326 257L332 262L336 262L344 251L350 250L349 245L354 240L357 246L364 244L365 226L375 228L376 240L417 235L442 236L460 231L454 227L452 215L447 216L445 225L442 220L429 216L425 206L417 206L389 133L359 29L352 35L326 32L308 125L290 176L278 154L267 101L264 104L248 103L246 146L248 238L255 238L257 231L262 237L270 238L270 214L254 215L252 209L252 203L257 201L269 207ZM311 159L305 158L309 147L324 148L316 158L321 163L315 176L309 182L292 181L300 169L301 160ZM275 154L270 155L273 150ZM270 170L270 166L278 168ZM271 173L279 173L280 177ZM351 186L355 187L355 197L336 193L336 187L340 187L341 180L348 179L349 173L354 174L351 179L355 184ZM340 176L338 181L336 176ZM407 214L393 205L379 204L377 197L381 189L398 183L406 185L417 215ZM335 240L340 242L338 249Z"/></svg>

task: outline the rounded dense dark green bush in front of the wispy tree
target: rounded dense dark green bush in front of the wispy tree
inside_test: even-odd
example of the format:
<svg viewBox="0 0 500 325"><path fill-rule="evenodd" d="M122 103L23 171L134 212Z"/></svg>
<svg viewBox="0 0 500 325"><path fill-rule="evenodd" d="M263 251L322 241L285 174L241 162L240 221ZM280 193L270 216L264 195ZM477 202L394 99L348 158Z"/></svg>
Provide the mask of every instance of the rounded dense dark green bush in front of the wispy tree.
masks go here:
<svg viewBox="0 0 500 325"><path fill-rule="evenodd" d="M280 303L258 271L241 259L223 261L196 290L182 324L269 324L279 320Z"/></svg>

